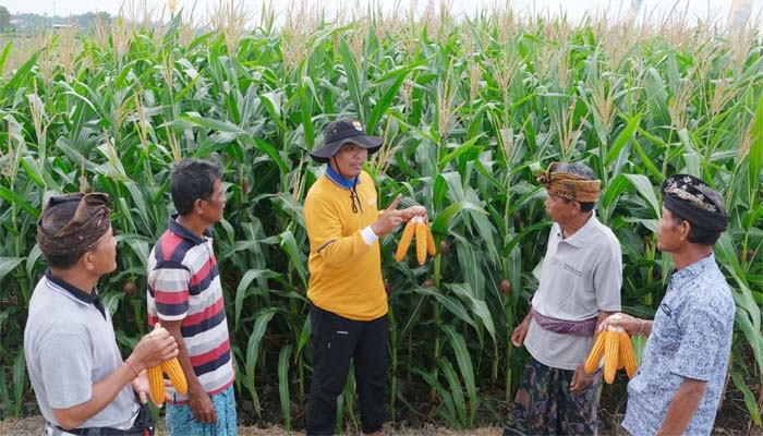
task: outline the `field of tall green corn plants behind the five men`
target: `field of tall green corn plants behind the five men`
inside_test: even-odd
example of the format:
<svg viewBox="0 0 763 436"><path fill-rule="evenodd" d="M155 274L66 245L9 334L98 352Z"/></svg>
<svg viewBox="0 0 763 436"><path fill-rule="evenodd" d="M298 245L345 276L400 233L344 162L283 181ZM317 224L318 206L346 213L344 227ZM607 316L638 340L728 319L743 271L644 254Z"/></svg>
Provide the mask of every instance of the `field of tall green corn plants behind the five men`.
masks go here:
<svg viewBox="0 0 763 436"><path fill-rule="evenodd" d="M304 7L250 28L238 7L201 29L122 19L89 32L3 39L0 52L0 416L34 395L22 334L45 269L35 223L48 195L111 195L119 269L99 289L126 352L145 334L146 257L172 211L173 161L219 162L226 220L214 229L237 395L249 422L304 425L312 374L307 150L325 124L359 119L385 137L367 170L385 206L427 207L438 254L393 259L389 411L395 423L499 423L521 379L510 334L537 284L550 223L534 174L585 161L600 219L623 253L625 312L651 318L671 270L656 247L658 186L689 172L723 193L717 261L737 302L727 391L744 423L763 407L763 41L759 27L682 20L581 24L497 8L465 20ZM641 342L637 343L637 358ZM621 377L621 376L620 376ZM625 378L614 388L625 399ZM342 428L358 423L353 380Z"/></svg>

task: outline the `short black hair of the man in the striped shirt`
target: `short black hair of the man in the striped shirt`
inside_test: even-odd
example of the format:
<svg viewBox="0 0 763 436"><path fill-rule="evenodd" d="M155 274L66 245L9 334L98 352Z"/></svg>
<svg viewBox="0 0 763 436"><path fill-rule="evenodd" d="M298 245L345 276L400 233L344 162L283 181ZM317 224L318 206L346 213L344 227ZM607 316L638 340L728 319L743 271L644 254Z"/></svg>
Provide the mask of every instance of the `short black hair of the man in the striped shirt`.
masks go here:
<svg viewBox="0 0 763 436"><path fill-rule="evenodd" d="M173 165L170 194L178 214L189 215L197 199L210 199L215 181L221 178L220 166L208 160L184 159Z"/></svg>

